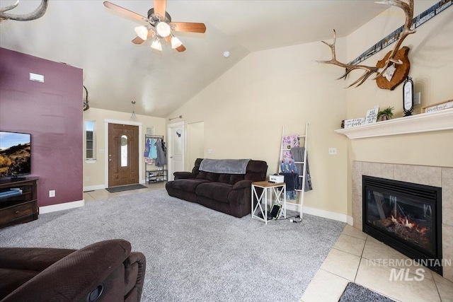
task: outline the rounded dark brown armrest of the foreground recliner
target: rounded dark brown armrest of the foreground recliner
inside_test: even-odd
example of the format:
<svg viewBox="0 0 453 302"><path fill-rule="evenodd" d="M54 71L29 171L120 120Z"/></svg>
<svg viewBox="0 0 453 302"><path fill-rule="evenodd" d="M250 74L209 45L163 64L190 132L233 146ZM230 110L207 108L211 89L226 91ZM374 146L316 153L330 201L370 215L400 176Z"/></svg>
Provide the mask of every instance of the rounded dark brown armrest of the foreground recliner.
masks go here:
<svg viewBox="0 0 453 302"><path fill-rule="evenodd" d="M32 297L33 301L87 301L101 284L104 298L124 296L123 262L130 250L130 243L121 239L88 245L50 265L2 302L30 301Z"/></svg>

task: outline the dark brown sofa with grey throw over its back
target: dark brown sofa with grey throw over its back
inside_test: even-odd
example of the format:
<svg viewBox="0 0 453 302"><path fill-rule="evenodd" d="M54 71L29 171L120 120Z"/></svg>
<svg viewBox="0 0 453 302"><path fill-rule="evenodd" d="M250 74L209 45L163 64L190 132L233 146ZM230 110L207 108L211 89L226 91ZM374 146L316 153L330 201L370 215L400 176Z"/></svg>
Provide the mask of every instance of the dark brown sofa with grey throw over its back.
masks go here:
<svg viewBox="0 0 453 302"><path fill-rule="evenodd" d="M251 214L251 183L265 180L268 164L250 160L245 174L211 173L200 170L202 160L197 158L192 172L173 173L168 194L236 217Z"/></svg>

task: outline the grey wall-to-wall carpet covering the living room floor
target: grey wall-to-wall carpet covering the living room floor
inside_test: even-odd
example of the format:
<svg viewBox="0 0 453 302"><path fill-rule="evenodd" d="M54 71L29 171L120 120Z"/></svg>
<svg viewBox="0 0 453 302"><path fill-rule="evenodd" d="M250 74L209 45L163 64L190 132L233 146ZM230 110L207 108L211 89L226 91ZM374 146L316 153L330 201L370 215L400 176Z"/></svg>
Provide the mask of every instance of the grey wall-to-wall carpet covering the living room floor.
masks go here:
<svg viewBox="0 0 453 302"><path fill-rule="evenodd" d="M345 223L239 219L166 190L87 202L0 230L0 245L83 248L123 238L143 252L142 301L300 300Z"/></svg>

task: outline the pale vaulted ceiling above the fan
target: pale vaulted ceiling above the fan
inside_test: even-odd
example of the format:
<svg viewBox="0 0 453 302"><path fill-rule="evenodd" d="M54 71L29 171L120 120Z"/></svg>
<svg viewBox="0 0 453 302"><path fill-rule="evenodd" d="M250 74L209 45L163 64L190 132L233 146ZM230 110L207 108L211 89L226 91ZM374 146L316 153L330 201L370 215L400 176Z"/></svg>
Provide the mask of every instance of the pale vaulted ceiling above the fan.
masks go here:
<svg viewBox="0 0 453 302"><path fill-rule="evenodd" d="M0 7L14 4L0 0ZM147 16L152 0L113 4ZM10 13L29 13L40 1L21 1ZM42 18L0 23L0 47L84 69L90 106L167 117L250 52L352 33L389 6L369 0L168 0L172 21L205 23L206 33L176 36L176 52L150 42L134 45L137 19L103 1L50 0ZM224 52L230 52L228 58Z"/></svg>

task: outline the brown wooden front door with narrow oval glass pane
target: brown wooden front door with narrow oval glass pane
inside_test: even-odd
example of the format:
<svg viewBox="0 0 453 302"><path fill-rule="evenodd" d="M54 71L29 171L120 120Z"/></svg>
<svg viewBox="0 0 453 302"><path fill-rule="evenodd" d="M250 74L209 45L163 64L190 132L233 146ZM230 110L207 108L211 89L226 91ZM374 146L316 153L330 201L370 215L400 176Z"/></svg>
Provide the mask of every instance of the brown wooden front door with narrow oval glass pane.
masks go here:
<svg viewBox="0 0 453 302"><path fill-rule="evenodd" d="M139 182L139 127L108 124L108 187Z"/></svg>

